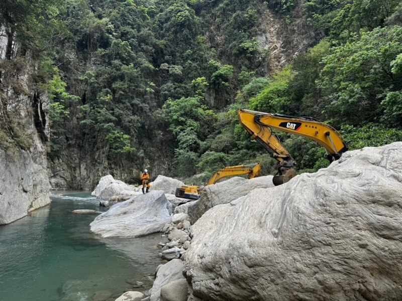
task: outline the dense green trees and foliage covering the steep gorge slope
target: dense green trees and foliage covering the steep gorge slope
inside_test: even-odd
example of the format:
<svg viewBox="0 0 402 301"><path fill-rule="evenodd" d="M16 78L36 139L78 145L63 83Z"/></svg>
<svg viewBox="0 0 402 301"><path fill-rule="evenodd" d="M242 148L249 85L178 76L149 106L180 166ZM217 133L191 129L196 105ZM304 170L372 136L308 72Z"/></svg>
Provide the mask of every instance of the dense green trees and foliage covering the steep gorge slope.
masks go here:
<svg viewBox="0 0 402 301"><path fill-rule="evenodd" d="M160 171L173 176L203 174L194 182L243 163L272 173L275 161L238 124L243 107L319 118L350 149L402 138L396 0L18 0L0 8L2 24L40 57L51 160L73 154L67 161L86 160L99 175L163 161ZM268 11L284 31L303 24L321 41L275 70L260 38ZM315 142L278 135L300 170L329 164Z"/></svg>

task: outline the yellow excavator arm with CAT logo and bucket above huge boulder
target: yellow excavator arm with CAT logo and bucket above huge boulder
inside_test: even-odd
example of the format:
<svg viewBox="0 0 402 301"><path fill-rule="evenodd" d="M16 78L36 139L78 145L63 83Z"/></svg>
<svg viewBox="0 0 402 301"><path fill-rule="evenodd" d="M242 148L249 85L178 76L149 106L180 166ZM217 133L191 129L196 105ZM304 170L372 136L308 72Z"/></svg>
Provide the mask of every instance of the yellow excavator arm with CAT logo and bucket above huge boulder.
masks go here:
<svg viewBox="0 0 402 301"><path fill-rule="evenodd" d="M322 145L329 159L338 160L348 150L340 134L330 125L312 117L294 117L240 109L240 123L252 139L264 147L278 162L278 171L272 182L275 186L288 182L296 176L296 162L279 142L272 130L306 137Z"/></svg>

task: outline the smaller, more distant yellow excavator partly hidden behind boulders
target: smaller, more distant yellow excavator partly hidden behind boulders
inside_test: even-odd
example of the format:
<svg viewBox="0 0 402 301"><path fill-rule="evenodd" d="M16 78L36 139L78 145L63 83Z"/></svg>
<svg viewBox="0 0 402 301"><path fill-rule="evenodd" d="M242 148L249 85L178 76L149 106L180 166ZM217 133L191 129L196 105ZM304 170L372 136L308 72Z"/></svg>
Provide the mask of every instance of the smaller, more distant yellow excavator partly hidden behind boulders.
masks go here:
<svg viewBox="0 0 402 301"><path fill-rule="evenodd" d="M219 180L231 176L248 175L247 179L256 178L260 175L260 172L261 172L261 164L259 163L225 167L217 171L211 177L211 179L208 180L205 186L213 185L217 183ZM203 189L199 186L185 185L177 188L175 195L178 198L198 200L202 193Z"/></svg>

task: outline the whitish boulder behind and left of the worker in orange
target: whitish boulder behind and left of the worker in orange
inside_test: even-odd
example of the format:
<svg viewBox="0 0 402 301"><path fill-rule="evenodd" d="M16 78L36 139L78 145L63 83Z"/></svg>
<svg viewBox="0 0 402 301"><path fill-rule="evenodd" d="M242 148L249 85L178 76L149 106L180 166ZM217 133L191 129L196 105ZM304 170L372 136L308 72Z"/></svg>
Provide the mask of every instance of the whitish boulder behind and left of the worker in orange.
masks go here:
<svg viewBox="0 0 402 301"><path fill-rule="evenodd" d="M111 175L100 178L98 185L92 191L92 196L98 199L110 199L113 196L120 195L135 195L134 192L139 192L139 188L134 185L127 185L123 181L115 180Z"/></svg>

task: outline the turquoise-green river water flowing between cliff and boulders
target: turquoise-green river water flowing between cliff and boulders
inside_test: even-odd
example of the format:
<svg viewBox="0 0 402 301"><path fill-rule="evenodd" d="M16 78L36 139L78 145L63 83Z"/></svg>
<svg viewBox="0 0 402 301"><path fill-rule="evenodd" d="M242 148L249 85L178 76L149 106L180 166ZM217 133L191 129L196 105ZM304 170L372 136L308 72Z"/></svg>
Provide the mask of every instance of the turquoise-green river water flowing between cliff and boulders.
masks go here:
<svg viewBox="0 0 402 301"><path fill-rule="evenodd" d="M109 301L152 285L160 234L102 239L89 231L96 215L71 213L99 210L98 200L54 193L50 205L0 226L1 301ZM133 288L136 281L145 287Z"/></svg>

